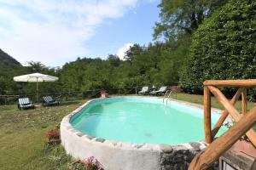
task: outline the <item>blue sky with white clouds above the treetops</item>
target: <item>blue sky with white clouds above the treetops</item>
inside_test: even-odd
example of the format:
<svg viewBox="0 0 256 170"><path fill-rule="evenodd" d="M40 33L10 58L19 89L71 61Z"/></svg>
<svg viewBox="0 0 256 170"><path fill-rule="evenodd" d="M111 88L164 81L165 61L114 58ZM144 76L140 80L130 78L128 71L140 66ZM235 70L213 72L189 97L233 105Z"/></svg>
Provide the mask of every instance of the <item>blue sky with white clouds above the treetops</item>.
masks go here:
<svg viewBox="0 0 256 170"><path fill-rule="evenodd" d="M0 48L21 64L61 66L152 41L160 0L0 0Z"/></svg>

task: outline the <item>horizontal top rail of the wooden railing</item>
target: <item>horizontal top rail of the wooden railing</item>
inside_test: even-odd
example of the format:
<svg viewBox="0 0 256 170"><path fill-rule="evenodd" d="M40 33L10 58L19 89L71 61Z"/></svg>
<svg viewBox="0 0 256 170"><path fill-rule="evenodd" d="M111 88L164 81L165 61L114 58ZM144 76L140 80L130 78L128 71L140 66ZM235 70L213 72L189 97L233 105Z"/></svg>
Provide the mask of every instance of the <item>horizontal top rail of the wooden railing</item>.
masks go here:
<svg viewBox="0 0 256 170"><path fill-rule="evenodd" d="M253 87L256 86L256 79L247 80L206 80L204 86L224 87Z"/></svg>

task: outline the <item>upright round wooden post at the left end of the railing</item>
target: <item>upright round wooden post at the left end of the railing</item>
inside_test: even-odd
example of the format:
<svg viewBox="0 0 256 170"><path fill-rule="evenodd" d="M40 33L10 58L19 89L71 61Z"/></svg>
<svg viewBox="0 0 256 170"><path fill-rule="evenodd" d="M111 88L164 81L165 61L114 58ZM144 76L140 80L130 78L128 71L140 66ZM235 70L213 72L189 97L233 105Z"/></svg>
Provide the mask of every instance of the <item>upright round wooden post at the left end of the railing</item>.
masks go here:
<svg viewBox="0 0 256 170"><path fill-rule="evenodd" d="M210 144L212 142L211 131L211 95L209 88L204 87L204 127L205 127L205 141Z"/></svg>

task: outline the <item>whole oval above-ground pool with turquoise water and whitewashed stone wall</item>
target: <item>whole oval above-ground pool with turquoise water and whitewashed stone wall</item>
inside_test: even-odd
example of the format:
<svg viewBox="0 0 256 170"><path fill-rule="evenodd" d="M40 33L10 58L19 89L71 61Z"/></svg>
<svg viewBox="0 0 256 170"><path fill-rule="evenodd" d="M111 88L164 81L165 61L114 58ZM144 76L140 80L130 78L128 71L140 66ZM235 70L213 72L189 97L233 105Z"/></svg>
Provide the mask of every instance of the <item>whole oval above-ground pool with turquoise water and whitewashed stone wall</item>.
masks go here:
<svg viewBox="0 0 256 170"><path fill-rule="evenodd" d="M212 124L218 120L212 110ZM91 99L61 121L61 144L105 169L187 169L204 139L203 110L178 100L151 97ZM224 132L220 129L220 133Z"/></svg>

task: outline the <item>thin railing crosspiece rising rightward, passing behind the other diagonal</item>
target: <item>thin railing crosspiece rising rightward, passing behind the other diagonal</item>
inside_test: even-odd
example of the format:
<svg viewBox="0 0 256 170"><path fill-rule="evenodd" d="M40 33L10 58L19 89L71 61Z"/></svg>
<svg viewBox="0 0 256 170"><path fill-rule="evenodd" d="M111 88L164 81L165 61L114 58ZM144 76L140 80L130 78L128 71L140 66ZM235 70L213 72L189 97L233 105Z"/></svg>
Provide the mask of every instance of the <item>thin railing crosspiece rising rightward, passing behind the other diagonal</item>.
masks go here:
<svg viewBox="0 0 256 170"><path fill-rule="evenodd" d="M230 100L231 105L235 105L236 101L241 96L241 93L244 91L245 88L239 88L236 92L236 94L233 96L233 98ZM215 137L215 135L218 133L218 129L223 125L225 119L229 116L229 111L224 110L224 112L221 114L221 116L218 119L218 122L214 125L212 128L212 138Z"/></svg>

